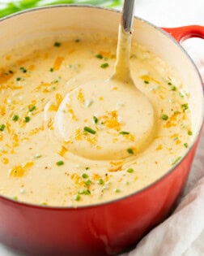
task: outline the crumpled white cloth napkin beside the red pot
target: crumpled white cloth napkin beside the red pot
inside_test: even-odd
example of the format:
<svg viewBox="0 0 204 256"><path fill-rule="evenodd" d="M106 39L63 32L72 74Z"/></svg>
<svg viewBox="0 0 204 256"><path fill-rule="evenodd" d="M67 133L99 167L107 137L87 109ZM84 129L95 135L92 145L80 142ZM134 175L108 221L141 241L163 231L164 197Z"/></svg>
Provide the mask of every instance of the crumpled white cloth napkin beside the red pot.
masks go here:
<svg viewBox="0 0 204 256"><path fill-rule="evenodd" d="M204 80L204 41L191 39L183 46ZM135 249L121 256L204 256L204 130L181 203Z"/></svg>

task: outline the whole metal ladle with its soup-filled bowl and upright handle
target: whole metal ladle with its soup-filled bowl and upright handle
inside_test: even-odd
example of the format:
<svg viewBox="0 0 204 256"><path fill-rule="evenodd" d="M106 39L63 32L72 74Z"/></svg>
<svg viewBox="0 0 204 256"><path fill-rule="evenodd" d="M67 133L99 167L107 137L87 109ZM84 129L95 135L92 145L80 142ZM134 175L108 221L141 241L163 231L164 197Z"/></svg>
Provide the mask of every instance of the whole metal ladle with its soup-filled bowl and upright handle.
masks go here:
<svg viewBox="0 0 204 256"><path fill-rule="evenodd" d="M151 141L154 110L130 76L133 14L134 1L126 0L113 76L80 85L66 94L58 108L55 134L73 154L96 160L127 158ZM87 107L84 102L90 98L95 101Z"/></svg>

